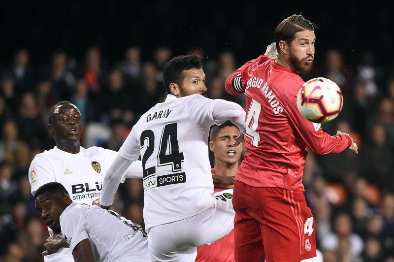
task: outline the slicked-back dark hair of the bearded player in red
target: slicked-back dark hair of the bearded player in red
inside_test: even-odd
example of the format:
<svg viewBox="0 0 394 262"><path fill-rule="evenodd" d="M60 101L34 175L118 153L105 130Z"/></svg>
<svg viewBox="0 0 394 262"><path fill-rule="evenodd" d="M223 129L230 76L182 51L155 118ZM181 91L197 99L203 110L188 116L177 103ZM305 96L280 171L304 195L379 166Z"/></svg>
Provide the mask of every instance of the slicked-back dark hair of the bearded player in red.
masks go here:
<svg viewBox="0 0 394 262"><path fill-rule="evenodd" d="M274 40L278 54L280 53L279 41L283 40L290 44L296 37L297 32L305 30L315 31L317 29L318 27L314 23L305 19L305 17L300 14L294 14L284 19L275 28L274 32Z"/></svg>

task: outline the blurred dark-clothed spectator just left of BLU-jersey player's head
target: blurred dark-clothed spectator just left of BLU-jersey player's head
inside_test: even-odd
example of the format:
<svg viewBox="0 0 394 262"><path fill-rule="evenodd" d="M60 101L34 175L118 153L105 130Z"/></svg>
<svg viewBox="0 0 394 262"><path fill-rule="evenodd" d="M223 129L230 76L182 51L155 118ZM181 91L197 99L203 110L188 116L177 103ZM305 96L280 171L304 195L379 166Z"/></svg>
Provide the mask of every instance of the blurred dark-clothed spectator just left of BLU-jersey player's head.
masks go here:
<svg viewBox="0 0 394 262"><path fill-rule="evenodd" d="M30 146L42 146L47 143L46 129L32 93L26 93L22 97L17 123L21 139Z"/></svg>

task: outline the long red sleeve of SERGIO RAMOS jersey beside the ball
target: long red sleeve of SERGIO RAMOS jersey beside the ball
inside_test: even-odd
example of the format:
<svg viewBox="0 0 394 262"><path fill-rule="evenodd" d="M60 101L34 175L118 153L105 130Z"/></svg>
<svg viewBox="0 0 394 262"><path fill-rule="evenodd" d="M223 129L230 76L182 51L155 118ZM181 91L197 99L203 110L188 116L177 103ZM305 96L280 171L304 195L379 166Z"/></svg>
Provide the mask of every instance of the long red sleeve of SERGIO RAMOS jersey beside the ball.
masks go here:
<svg viewBox="0 0 394 262"><path fill-rule="evenodd" d="M286 83L289 90L298 90L302 84L302 81L296 79ZM349 148L352 144L352 139L348 135L329 135L322 130L320 124L312 123L304 118L297 108L296 92L289 93L285 104L286 111L296 131L313 153L318 155L339 153Z"/></svg>

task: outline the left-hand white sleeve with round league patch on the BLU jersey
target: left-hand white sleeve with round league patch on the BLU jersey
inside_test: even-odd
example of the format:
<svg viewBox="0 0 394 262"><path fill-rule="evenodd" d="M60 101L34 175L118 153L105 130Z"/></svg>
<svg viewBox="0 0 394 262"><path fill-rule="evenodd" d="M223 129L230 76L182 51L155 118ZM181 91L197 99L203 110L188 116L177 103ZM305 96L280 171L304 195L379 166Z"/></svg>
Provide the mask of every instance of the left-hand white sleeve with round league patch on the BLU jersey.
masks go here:
<svg viewBox="0 0 394 262"><path fill-rule="evenodd" d="M47 158L35 156L29 168L29 182L33 196L35 191L42 185L56 182L54 171Z"/></svg>

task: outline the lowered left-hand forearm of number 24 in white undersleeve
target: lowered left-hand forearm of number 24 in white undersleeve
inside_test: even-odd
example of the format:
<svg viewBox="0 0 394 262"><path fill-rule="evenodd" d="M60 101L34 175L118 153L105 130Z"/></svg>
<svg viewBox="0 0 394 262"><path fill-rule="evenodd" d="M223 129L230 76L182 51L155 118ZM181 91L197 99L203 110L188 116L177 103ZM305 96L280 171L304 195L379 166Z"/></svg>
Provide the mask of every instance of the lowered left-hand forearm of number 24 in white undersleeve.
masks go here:
<svg viewBox="0 0 394 262"><path fill-rule="evenodd" d="M131 165L132 161L117 155L114 162L109 167L102 181L102 191L100 203L110 206L113 203L116 190L118 190L122 175Z"/></svg>

